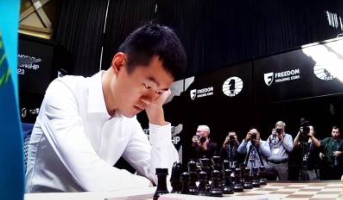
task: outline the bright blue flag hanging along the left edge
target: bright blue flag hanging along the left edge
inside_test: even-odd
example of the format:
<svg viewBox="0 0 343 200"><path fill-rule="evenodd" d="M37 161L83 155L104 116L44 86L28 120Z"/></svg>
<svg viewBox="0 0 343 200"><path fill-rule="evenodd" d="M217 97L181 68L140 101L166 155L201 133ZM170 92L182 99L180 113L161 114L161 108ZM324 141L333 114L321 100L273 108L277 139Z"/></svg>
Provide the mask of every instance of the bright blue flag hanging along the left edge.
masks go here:
<svg viewBox="0 0 343 200"><path fill-rule="evenodd" d="M17 95L19 0L0 1L0 199L24 198L23 139Z"/></svg>

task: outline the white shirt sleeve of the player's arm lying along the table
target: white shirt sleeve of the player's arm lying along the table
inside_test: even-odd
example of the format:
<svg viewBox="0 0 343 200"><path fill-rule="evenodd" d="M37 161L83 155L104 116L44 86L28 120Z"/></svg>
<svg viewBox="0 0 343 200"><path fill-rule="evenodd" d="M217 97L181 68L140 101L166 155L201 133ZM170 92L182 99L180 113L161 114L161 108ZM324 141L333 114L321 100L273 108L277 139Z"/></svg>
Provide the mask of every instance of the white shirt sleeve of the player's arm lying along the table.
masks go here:
<svg viewBox="0 0 343 200"><path fill-rule="evenodd" d="M61 95L63 94L63 95ZM47 89L40 126L70 174L85 191L148 187L145 177L115 168L102 160L86 136L78 103L67 85L54 81Z"/></svg>

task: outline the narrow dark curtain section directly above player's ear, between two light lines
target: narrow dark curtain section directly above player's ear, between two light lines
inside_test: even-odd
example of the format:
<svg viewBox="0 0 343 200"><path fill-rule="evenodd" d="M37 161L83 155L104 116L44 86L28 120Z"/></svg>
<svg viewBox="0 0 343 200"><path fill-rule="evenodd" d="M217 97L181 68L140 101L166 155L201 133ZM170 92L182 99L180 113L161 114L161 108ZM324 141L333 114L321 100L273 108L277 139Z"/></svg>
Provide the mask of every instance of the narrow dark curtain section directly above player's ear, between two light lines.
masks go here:
<svg viewBox="0 0 343 200"><path fill-rule="evenodd" d="M133 30L153 19L155 5L155 0L110 0L102 69L109 68L118 47Z"/></svg>

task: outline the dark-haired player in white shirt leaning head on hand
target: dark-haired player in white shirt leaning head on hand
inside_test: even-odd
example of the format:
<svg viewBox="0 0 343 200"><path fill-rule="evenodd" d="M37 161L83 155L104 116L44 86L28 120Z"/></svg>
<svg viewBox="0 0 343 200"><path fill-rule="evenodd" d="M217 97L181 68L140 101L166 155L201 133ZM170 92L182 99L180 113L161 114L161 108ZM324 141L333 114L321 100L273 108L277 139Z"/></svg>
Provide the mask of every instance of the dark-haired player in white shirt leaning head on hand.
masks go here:
<svg viewBox="0 0 343 200"><path fill-rule="evenodd" d="M108 70L54 80L29 142L26 192L148 187L156 168L170 174L178 154L162 105L185 66L176 34L150 23L126 38ZM142 110L150 141L135 117ZM142 176L113 167L120 156Z"/></svg>

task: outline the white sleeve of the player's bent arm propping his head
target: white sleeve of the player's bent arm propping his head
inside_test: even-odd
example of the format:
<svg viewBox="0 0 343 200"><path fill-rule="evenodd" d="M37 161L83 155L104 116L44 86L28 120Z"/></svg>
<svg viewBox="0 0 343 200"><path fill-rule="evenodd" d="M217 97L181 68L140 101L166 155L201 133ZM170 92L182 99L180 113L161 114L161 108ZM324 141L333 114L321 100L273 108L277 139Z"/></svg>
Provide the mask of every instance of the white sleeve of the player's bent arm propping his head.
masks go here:
<svg viewBox="0 0 343 200"><path fill-rule="evenodd" d="M171 174L173 163L179 160L178 152L171 142L171 125L149 124L150 143L140 124L135 123L135 132L131 137L123 157L140 175L157 183L156 168L168 168ZM167 180L169 180L167 178ZM169 181L167 181L169 182Z"/></svg>

